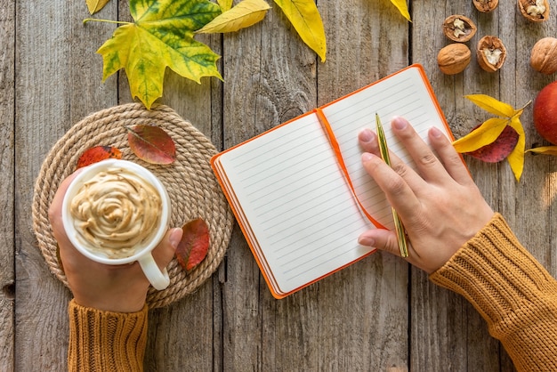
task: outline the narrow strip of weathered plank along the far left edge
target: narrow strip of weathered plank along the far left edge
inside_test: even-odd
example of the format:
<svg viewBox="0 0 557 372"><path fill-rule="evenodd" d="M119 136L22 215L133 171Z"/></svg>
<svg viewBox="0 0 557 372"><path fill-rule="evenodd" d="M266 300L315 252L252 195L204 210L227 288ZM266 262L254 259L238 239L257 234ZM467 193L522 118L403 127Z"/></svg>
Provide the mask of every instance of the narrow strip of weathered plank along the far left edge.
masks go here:
<svg viewBox="0 0 557 372"><path fill-rule="evenodd" d="M0 370L14 368L14 111L15 6L0 0Z"/></svg>

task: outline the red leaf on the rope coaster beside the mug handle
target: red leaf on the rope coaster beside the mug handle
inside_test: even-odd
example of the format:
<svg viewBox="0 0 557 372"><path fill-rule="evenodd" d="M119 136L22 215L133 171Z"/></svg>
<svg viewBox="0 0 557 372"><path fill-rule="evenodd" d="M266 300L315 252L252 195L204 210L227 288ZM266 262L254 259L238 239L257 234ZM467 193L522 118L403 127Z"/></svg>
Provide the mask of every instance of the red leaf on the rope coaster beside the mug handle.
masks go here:
<svg viewBox="0 0 557 372"><path fill-rule="evenodd" d="M201 218L190 221L182 227L183 235L176 248L176 260L182 269L190 271L201 263L209 249L209 228Z"/></svg>

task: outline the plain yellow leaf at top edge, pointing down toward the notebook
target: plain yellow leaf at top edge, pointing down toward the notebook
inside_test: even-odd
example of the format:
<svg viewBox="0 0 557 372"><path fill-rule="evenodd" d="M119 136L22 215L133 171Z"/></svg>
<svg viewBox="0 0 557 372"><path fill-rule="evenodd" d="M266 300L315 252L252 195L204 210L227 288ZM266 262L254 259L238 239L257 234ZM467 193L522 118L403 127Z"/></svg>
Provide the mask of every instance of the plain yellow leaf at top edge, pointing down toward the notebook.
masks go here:
<svg viewBox="0 0 557 372"><path fill-rule="evenodd" d="M327 54L327 42L325 40L325 28L321 20L321 14L314 0L274 0L285 13L298 35L315 53L321 61L325 61Z"/></svg>

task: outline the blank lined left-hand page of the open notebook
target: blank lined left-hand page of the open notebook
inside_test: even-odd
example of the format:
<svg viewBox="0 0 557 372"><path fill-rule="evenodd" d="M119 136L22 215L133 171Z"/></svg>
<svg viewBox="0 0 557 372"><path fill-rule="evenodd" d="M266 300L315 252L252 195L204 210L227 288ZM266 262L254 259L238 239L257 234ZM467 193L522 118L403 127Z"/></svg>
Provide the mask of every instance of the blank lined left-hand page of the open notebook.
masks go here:
<svg viewBox="0 0 557 372"><path fill-rule="evenodd" d="M359 212L318 117L308 114L222 153L217 168L278 294L370 252Z"/></svg>

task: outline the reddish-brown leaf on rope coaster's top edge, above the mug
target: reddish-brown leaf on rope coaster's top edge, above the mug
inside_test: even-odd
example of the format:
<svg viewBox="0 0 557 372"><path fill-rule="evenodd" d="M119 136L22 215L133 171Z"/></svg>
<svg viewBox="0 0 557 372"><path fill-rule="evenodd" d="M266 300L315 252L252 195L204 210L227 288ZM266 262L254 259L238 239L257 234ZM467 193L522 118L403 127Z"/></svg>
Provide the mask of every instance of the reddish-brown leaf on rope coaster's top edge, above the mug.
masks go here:
<svg viewBox="0 0 557 372"><path fill-rule="evenodd" d="M176 145L163 129L155 125L126 126L133 153L151 164L170 164L176 159Z"/></svg>

